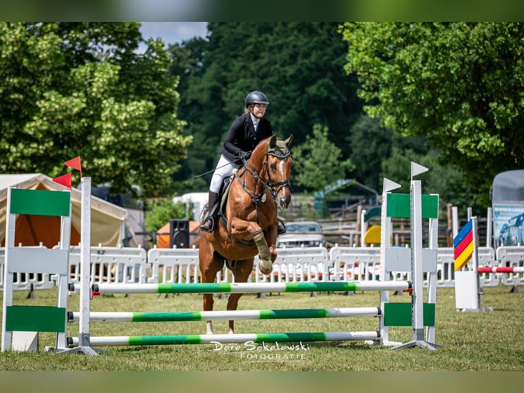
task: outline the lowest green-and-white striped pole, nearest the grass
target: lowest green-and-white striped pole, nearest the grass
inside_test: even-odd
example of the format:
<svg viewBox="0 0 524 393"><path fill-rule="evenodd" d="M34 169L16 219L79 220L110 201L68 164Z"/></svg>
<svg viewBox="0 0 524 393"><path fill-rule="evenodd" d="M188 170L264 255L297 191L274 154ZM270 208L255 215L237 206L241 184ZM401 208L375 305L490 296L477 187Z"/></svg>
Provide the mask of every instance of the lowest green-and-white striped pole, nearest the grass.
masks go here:
<svg viewBox="0 0 524 393"><path fill-rule="evenodd" d="M228 344L248 342L311 342L311 341L375 341L378 331L327 331L311 333L240 333L189 335L122 335L92 337L94 346L172 345L172 344ZM68 345L78 345L78 338L69 337Z"/></svg>

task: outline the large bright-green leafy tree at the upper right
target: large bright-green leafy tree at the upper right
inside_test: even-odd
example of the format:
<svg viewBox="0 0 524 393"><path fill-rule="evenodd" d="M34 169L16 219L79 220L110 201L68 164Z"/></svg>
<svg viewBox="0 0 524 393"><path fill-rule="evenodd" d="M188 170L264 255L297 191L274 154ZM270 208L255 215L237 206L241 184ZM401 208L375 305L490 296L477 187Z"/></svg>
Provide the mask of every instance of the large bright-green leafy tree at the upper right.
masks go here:
<svg viewBox="0 0 524 393"><path fill-rule="evenodd" d="M371 117L422 136L482 193L524 165L523 23L345 23Z"/></svg>

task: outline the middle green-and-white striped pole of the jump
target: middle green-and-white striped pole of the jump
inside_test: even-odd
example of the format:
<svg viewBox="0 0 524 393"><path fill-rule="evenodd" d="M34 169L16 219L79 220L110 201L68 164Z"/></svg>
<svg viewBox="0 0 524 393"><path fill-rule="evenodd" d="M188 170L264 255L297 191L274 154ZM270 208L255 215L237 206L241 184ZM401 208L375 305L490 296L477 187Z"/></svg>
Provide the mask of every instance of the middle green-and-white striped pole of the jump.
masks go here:
<svg viewBox="0 0 524 393"><path fill-rule="evenodd" d="M350 318L380 316L379 307L326 309L248 309L201 312L90 312L91 321L103 322L187 322L201 320L261 320L299 318ZM68 322L77 322L79 312L68 312Z"/></svg>

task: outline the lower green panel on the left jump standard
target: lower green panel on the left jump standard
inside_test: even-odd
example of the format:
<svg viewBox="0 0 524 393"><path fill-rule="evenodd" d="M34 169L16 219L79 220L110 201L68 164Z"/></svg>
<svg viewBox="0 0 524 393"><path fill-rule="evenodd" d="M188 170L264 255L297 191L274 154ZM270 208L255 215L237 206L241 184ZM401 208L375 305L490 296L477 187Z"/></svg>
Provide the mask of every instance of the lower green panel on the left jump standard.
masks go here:
<svg viewBox="0 0 524 393"><path fill-rule="evenodd" d="M12 305L5 314L6 331L66 331L64 307Z"/></svg>

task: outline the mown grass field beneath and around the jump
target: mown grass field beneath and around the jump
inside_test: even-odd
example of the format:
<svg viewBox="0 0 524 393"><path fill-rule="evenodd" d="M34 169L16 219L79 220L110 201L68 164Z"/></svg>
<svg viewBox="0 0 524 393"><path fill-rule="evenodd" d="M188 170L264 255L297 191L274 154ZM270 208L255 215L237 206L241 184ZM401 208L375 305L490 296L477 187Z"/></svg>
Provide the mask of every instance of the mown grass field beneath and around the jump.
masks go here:
<svg viewBox="0 0 524 393"><path fill-rule="evenodd" d="M105 346L100 356L79 353L57 355L43 351L54 344L54 335L40 333L38 353L0 354L3 371L522 371L524 370L524 298L509 293L510 288L485 288L482 305L493 312L456 312L454 290L439 288L436 306L437 351L422 348L391 350L363 342L304 342L298 349L259 348L246 357L237 348L214 344L167 346ZM37 291L37 299L27 292L15 292L16 305L55 305L56 291ZM246 294L239 309L285 309L378 306L377 292L357 292L353 296L319 293L267 294L257 299ZM407 294L391 296L392 301L409 302ZM215 296L215 309L225 309L226 300ZM69 298L70 311L79 309L79 296ZM96 296L91 311L198 311L198 294ZM213 322L215 333L227 333L226 321ZM373 331L377 318L326 318L305 320L239 320L236 333L301 331ZM68 324L68 335L77 336L78 323ZM203 334L205 322L91 322L90 335L177 335ZM392 327L390 340L408 342L410 327ZM240 344L242 346L242 344ZM288 344L282 344L288 345ZM246 348L246 347L244 347ZM280 355L278 361L274 355ZM268 355L273 355L272 357ZM293 355L293 356L291 356Z"/></svg>

